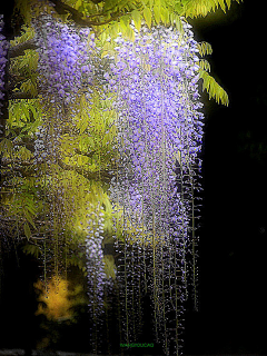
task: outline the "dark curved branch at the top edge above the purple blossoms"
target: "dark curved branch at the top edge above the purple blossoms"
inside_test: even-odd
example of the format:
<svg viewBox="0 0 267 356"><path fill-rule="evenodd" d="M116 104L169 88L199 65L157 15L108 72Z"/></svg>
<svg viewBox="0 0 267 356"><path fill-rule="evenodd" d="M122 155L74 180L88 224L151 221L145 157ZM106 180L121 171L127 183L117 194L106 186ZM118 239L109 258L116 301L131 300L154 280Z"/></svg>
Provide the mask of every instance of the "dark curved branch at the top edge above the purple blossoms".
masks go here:
<svg viewBox="0 0 267 356"><path fill-rule="evenodd" d="M50 0L53 4L55 4L55 10L59 13L59 14L66 14L66 12L69 12L71 14L71 18L72 20L77 23L77 24L80 24L82 27L90 27L90 26L101 26L101 24L107 24L113 20L117 20L119 17L121 17L122 14L125 13L121 13L121 12L117 12L117 13L113 13L112 18L109 19L109 20L106 20L106 21L102 21L102 22L99 22L99 21L91 21L91 20L88 20L88 19L83 19L82 18L82 14L71 8L70 6L68 6L67 3L63 3L62 1L60 0ZM100 2L100 1L99 1Z"/></svg>

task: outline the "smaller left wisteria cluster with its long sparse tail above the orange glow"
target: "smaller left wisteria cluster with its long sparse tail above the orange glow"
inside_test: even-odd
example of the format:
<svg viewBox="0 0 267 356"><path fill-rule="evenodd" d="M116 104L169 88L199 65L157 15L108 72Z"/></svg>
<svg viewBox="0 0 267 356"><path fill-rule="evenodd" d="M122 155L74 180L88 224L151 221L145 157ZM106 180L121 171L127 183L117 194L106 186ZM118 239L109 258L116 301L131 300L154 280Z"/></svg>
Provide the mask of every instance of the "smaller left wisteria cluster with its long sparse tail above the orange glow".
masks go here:
<svg viewBox="0 0 267 356"><path fill-rule="evenodd" d="M44 249L43 264L53 265L57 275L63 259L66 234L66 190L62 187L62 165L66 152L62 145L77 134L75 116L79 113L79 98L87 93L90 99L90 85L93 76L91 56L96 44L95 34L89 28L78 28L57 18L56 13L40 1L40 11L32 20L36 32L39 61L38 90L43 109L42 122L38 127L34 141L36 175L46 191L47 234L51 237L51 248ZM50 12L49 12L50 11ZM72 152L68 152L69 156ZM67 248L67 247L66 247ZM49 251L52 251L49 258ZM62 258L60 258L62 257ZM47 267L46 267L47 268ZM46 269L44 268L44 269Z"/></svg>

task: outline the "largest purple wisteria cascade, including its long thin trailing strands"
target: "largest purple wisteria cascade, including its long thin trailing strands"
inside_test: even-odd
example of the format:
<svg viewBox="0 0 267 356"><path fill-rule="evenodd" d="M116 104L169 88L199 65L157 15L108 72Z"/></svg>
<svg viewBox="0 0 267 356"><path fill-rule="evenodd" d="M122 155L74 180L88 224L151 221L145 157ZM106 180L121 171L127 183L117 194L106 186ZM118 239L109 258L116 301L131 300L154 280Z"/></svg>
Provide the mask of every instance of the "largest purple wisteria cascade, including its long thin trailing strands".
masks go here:
<svg viewBox="0 0 267 356"><path fill-rule="evenodd" d="M199 190L196 176L204 135L198 47L185 22L184 33L162 27L135 31L135 42L117 38L112 73L105 76L116 92L118 111L119 158L111 197L116 208L123 209L125 255L132 255L127 248L137 246L138 254L147 257L142 270L148 271L144 279L151 296L156 337L167 355L178 355L190 289L197 308L194 195ZM118 230L118 221L116 226ZM126 274L127 266L120 278L129 309Z"/></svg>

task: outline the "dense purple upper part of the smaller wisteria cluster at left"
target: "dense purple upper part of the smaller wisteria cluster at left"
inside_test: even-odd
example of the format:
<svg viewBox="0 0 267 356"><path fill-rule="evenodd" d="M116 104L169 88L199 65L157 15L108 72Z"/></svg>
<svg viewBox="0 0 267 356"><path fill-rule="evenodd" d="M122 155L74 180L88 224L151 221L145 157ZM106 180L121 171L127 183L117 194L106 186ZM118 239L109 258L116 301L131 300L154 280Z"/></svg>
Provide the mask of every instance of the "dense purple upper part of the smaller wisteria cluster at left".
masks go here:
<svg viewBox="0 0 267 356"><path fill-rule="evenodd" d="M95 33L89 28L62 23L48 13L38 21L40 90L43 96L60 98L68 105L79 90L90 85Z"/></svg>

